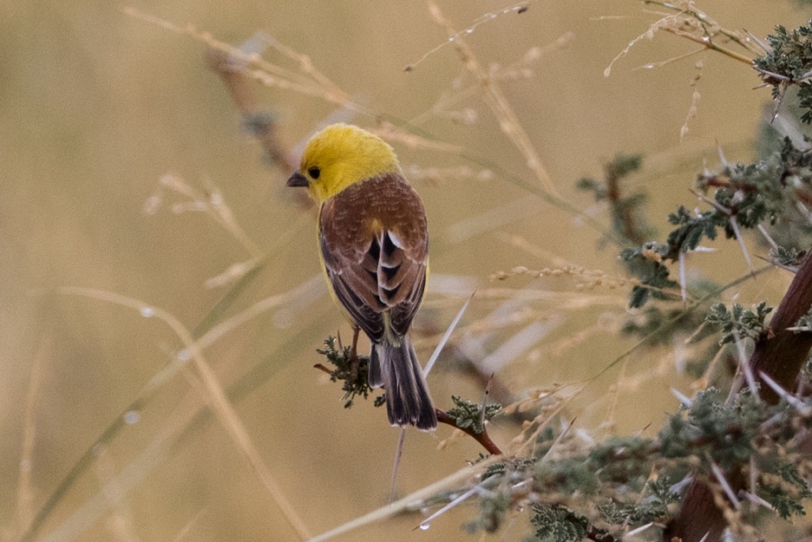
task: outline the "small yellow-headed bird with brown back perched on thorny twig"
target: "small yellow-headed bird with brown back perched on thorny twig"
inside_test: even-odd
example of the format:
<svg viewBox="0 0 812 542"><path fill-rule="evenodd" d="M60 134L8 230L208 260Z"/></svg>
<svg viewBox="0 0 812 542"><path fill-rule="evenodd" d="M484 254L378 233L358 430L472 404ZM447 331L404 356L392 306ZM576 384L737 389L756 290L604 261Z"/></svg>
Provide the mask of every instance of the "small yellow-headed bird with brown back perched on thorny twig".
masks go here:
<svg viewBox="0 0 812 542"><path fill-rule="evenodd" d="M429 274L426 211L394 150L353 124L331 124L309 139L286 184L307 188L319 207L328 289L372 343L369 385L383 386L389 422L436 428L409 334Z"/></svg>

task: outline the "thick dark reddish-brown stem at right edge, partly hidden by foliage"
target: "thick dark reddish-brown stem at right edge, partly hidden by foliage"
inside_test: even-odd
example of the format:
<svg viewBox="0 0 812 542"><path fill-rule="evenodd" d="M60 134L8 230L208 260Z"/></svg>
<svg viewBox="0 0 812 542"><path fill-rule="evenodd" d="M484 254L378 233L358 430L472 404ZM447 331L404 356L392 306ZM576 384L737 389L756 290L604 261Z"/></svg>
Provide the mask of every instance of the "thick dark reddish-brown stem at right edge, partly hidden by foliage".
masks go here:
<svg viewBox="0 0 812 542"><path fill-rule="evenodd" d="M798 318L807 314L812 307L812 253L801 262L798 272L781 300L775 316L770 321L770 335L762 338L753 350L748 363L756 381L761 383L761 399L775 404L780 400L778 393L767 385L762 374L776 381L785 390L792 390L798 373L812 349L812 333L795 333L787 328L795 326ZM731 389L733 395L744 383L740 373ZM741 469L735 468L727 474L734 491L743 487ZM682 501L676 518L672 519L663 531L663 541L680 538L682 542L699 542L708 534L707 542L715 542L722 536L727 521L724 512L714 501L713 491L705 482L697 479L692 482Z"/></svg>

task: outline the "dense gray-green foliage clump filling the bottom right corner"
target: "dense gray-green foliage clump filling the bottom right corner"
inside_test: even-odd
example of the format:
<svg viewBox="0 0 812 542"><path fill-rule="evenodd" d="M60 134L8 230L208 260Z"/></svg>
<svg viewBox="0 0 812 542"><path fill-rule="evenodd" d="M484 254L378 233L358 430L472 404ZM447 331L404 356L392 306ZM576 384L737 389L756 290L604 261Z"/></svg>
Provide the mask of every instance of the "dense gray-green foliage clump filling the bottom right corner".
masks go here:
<svg viewBox="0 0 812 542"><path fill-rule="evenodd" d="M489 465L480 513L466 528L493 532L532 495L535 539L581 540L591 531L590 537L616 541L629 529L666 523L690 474L717 483L715 468L732 473L741 465L754 469L756 483L748 489L780 517L803 515L803 502L812 494L800 473L809 465L793 445L798 428L810 425L812 405L768 405L749 390L725 401L710 389L670 415L654 438L615 436L577 447L547 432L536 455ZM563 450L556 453L556 446ZM528 480L532 484L524 491L515 489ZM741 514L755 520L760 510L745 507Z"/></svg>

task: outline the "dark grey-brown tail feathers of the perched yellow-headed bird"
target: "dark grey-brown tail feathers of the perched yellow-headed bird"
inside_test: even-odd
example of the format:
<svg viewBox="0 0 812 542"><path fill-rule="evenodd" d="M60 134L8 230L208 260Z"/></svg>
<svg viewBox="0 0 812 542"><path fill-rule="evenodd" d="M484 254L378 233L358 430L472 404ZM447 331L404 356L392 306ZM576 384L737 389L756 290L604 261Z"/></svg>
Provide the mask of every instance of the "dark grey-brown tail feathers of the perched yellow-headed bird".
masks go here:
<svg viewBox="0 0 812 542"><path fill-rule="evenodd" d="M437 427L423 368L411 347L409 336L401 344L383 340L374 344L370 355L369 385L386 390L386 413L393 426L412 425L423 431Z"/></svg>

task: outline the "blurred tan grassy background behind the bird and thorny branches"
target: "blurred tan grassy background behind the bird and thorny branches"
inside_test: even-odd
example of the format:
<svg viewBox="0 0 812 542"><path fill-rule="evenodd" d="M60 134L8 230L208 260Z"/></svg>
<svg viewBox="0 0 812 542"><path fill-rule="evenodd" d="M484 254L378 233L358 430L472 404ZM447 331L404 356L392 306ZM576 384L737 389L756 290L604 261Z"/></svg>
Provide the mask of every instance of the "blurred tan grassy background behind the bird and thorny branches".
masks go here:
<svg viewBox="0 0 812 542"><path fill-rule="evenodd" d="M404 120L422 116L420 126L438 140L532 179L479 94L453 107L473 111L474 124L423 116L440 96L452 92L458 79L463 87L473 80L463 75L449 46L404 71L448 41L421 3L233 5L213 0L132 5L181 26L194 24L232 44L254 32L268 32L309 55L328 78L373 110ZM459 30L509 6L484 0L442 4ZM757 36L778 23L797 26L808 16L793 2L775 0L708 0L700 7L726 27L746 28ZM177 336L156 318L97 299L61 295L56 289L71 285L114 291L163 308L193 328L226 291L207 289L205 282L249 257L205 214L173 213L172 204L182 198L159 188L161 176L172 172L200 190L217 187L246 234L263 251L271 251L226 317L318 277L315 214L283 188L290 171L269 168L256 143L241 131L230 96L206 69L204 47L120 8L71 1L0 7L5 172L0 191L0 524L6 540L19 537L78 457L180 348ZM695 205L687 188L704 160L717 160L716 142L728 160L752 156L752 138L769 92L752 90L759 82L752 70L711 53L660 69L634 69L693 47L664 34L641 41L604 78L614 56L657 17L632 2L533 3L526 13L478 25L466 38L488 67L511 64L531 47L547 46L572 32L565 46L531 64L531 78L504 82L505 92L550 177L577 207L592 206L572 188L579 177L599 175L602 161L615 152L645 153L644 170L633 182L650 194L649 217L662 231L666 213L678 202ZM266 58L285 62L272 50ZM689 83L699 59L704 63L697 83L699 112L680 143L679 130L691 103ZM295 92L257 91L263 106L278 115L281 138L291 146L335 109ZM353 122L375 125L374 118L363 115ZM473 171L473 177L413 179L429 215L435 275L417 321L423 335L448 326L473 289L529 285L565 294L576 291L566 278L489 283L494 271L555 264L508 243L505 235L519 236L568 262L623 274L614 264L614 248L596 250L599 235L572 216L499 175L476 178L482 168L454 153L394 144L407 171L411 164ZM145 213L144 205L156 191L162 195L161 206ZM592 210L604 219L599 208ZM290 241L280 244L284 235ZM732 245L699 263L720 282L746 271ZM780 291L785 280L770 274L742 290L764 295ZM338 387L312 369L319 361L314 349L323 338L337 329L348 337L349 329L318 278L305 292L280 310L251 319L205 354L224 386L253 374L257 366L270 374L266 381L254 381L235 408L281 491L316 534L385 503L399 432L388 427L383 411L369 401L341 409ZM530 308L540 322L550 324L549 335L540 334L530 348L512 353L512 365L499 373L514 392L588 377L631 344L611 333L625 315L623 293L593 293L603 300L577 310L557 307L556 301L527 301L511 308L513 314ZM502 301L499 296L475 298L458 340L466 338L466 326ZM494 333L484 343L486 353L527 323ZM577 332L585 330L592 331L577 342ZM469 338L476 333L471 330ZM423 359L433 344L436 340L424 341ZM648 370L660 357L636 358L628 371ZM438 406L448 407L452 393L479 398L480 382L443 371L443 359L429 379ZM688 380L664 367L661 381L623 393L617 405L620 431L649 424L656 430L662 413L675 408L669 386L687 389ZM616 378L617 372L604 377L570 414L578 415L585 427L604 421L601 398ZM138 413L137 423L99 447L92 468L60 500L39 539L296 539L217 421L195 418L198 423L182 432L180 440L154 447L161 435L189 422L204 402L182 374L161 388ZM27 422L26 404L31 412ZM516 433L510 424L495 425L494 438L503 444ZM466 440L438 452L438 440L449 433L441 427L437 435L407 436L401 494L476 457L477 446ZM21 467L26 446L30 461ZM120 480L116 473L122 473ZM115 492L111 488L116 483L110 482L116 480L132 483L121 482ZM450 514L425 532L411 530L419 519L410 516L341 539L466 537L459 530L466 513ZM507 537L525 534L515 528Z"/></svg>

